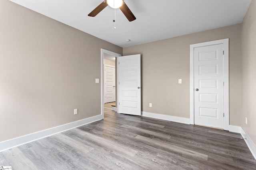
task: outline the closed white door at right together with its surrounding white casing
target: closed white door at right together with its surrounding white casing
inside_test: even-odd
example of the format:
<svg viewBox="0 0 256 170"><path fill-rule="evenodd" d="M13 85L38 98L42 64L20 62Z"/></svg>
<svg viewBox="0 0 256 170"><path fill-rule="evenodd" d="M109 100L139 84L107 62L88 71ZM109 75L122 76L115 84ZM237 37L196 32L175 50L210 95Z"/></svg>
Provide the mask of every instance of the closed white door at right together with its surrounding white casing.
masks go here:
<svg viewBox="0 0 256 170"><path fill-rule="evenodd" d="M190 45L190 124L230 127L228 43L222 39Z"/></svg>

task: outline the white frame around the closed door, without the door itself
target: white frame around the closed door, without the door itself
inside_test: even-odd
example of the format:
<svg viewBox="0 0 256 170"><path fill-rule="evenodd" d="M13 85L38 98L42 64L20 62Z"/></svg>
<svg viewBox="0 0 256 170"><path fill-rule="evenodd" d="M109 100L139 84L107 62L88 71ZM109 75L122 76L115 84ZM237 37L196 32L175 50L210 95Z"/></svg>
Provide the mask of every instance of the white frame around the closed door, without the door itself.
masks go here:
<svg viewBox="0 0 256 170"><path fill-rule="evenodd" d="M190 124L194 125L194 48L208 46L208 45L217 45L217 44L223 44L223 50L224 50L223 129L229 130L230 125L229 125L229 39L228 38L190 45Z"/></svg>

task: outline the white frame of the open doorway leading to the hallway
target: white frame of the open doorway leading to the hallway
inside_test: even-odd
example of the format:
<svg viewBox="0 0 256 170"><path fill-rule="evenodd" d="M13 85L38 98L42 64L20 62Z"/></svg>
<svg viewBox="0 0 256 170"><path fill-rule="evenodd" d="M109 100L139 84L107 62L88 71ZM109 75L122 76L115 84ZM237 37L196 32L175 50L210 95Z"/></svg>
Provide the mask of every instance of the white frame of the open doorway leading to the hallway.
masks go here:
<svg viewBox="0 0 256 170"><path fill-rule="evenodd" d="M102 115L102 119L104 119L104 54L112 55L114 57L122 56L122 55L120 55L118 53L114 53L112 51L100 49L100 56L101 56L101 59L100 59L100 79L101 79L100 86L101 86L101 115ZM116 87L116 89L117 89L117 87Z"/></svg>

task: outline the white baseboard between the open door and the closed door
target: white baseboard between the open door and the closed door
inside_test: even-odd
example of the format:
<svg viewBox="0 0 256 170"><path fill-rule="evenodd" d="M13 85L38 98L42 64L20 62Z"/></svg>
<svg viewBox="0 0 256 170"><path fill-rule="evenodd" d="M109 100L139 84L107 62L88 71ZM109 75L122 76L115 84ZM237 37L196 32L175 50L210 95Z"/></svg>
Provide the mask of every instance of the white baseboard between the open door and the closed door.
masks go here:
<svg viewBox="0 0 256 170"><path fill-rule="evenodd" d="M174 121L174 122L178 122L178 123L190 124L190 118L185 118L185 117L162 115L162 114L158 114L158 113L150 113L150 112L145 112L145 111L142 111L142 116L151 117L151 118L155 118L155 119L162 119L162 120L167 120L167 121Z"/></svg>

